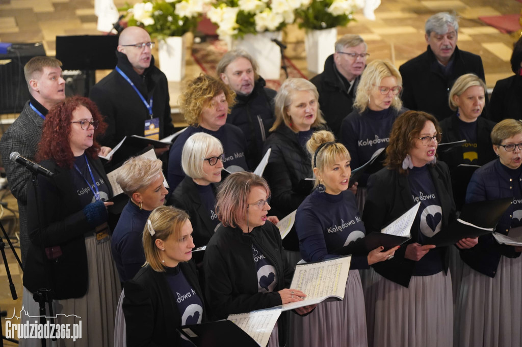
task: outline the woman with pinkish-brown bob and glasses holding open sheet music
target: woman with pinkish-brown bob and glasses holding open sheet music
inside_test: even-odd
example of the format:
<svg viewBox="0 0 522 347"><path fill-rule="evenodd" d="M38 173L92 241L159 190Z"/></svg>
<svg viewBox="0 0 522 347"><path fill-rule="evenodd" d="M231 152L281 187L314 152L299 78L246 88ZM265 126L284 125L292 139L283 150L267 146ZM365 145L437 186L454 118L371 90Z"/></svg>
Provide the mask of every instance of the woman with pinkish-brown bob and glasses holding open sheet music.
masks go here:
<svg viewBox="0 0 522 347"><path fill-rule="evenodd" d="M283 261L279 229L267 217L267 182L251 172L234 172L221 183L217 199L222 225L210 239L203 262L211 317L224 319L303 300L305 293L286 288L293 269ZM295 311L307 314L314 307ZM286 342L285 318L279 318L269 346Z"/></svg>

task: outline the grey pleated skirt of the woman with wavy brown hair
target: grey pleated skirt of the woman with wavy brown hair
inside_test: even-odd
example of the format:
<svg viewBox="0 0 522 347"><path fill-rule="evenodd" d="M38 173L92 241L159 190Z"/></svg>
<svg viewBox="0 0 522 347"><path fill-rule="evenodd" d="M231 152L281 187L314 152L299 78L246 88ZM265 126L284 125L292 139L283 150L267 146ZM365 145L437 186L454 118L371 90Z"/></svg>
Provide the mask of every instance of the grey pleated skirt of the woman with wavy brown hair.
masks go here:
<svg viewBox="0 0 522 347"><path fill-rule="evenodd" d="M366 289L368 345L451 347L452 280L444 271L412 276L402 287L372 271Z"/></svg>

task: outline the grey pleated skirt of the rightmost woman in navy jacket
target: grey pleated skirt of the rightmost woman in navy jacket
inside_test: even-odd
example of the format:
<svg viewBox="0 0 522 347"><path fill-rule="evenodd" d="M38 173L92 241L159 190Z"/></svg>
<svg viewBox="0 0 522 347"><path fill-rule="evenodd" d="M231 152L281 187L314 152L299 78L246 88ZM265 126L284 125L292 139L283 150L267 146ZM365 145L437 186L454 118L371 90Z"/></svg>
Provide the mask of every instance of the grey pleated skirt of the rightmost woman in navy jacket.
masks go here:
<svg viewBox="0 0 522 347"><path fill-rule="evenodd" d="M494 278L464 264L455 347L522 346L522 257L500 258Z"/></svg>

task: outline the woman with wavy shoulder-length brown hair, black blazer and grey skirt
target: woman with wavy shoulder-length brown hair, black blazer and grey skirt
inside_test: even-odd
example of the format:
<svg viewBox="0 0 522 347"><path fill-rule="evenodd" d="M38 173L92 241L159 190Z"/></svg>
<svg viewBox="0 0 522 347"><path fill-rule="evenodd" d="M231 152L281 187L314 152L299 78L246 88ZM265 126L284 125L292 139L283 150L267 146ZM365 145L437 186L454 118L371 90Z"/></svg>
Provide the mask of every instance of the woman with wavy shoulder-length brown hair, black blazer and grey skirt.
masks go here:
<svg viewBox="0 0 522 347"><path fill-rule="evenodd" d="M411 239L390 261L374 264L366 291L370 346L450 346L453 343L452 282L446 247L430 238L455 219L449 170L437 162L441 140L435 117L407 111L395 121L386 167L370 176L363 220L367 232L382 227L420 202ZM463 239L470 248L477 239Z"/></svg>

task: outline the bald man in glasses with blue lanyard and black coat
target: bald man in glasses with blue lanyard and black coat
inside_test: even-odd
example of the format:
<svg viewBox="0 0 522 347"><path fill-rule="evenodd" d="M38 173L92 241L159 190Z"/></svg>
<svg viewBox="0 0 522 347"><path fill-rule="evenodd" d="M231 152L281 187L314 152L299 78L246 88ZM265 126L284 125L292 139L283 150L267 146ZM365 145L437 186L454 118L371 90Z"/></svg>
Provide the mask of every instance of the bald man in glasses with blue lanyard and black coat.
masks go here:
<svg viewBox="0 0 522 347"><path fill-rule="evenodd" d="M139 27L120 34L116 68L89 95L109 125L101 144L114 147L130 135L160 140L174 132L167 77L154 66L153 47L147 31Z"/></svg>

